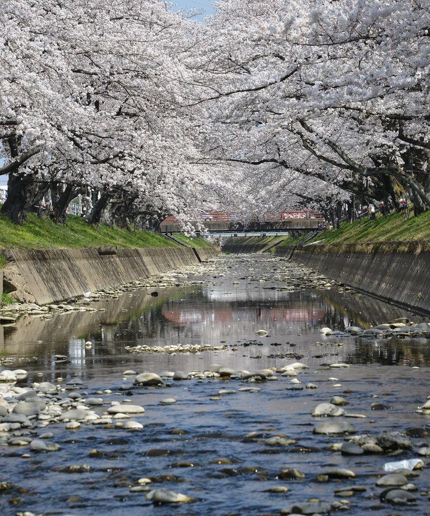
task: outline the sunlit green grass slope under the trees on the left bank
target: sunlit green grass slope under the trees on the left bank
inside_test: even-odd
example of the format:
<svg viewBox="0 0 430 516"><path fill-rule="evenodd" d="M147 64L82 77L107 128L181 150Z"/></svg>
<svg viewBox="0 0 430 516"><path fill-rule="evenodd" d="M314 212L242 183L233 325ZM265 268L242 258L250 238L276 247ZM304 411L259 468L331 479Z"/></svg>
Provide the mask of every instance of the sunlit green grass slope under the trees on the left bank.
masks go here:
<svg viewBox="0 0 430 516"><path fill-rule="evenodd" d="M95 226L74 215L68 215L66 225L62 225L28 213L27 221L22 226L0 215L0 248L77 249L105 245L119 248L180 246L161 233L128 231L110 228L106 224Z"/></svg>

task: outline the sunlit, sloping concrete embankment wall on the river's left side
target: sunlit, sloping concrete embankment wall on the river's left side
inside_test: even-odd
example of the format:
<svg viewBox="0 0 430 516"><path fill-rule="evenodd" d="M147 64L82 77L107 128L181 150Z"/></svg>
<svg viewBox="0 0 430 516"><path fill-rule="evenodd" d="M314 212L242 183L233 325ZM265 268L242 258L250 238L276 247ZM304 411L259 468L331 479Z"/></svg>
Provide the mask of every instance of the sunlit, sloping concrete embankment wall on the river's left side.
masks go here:
<svg viewBox="0 0 430 516"><path fill-rule="evenodd" d="M21 301L53 303L85 292L162 274L206 261L216 255L208 248L190 247L118 249L99 254L97 249L5 249L5 290ZM199 256L199 258L198 258Z"/></svg>

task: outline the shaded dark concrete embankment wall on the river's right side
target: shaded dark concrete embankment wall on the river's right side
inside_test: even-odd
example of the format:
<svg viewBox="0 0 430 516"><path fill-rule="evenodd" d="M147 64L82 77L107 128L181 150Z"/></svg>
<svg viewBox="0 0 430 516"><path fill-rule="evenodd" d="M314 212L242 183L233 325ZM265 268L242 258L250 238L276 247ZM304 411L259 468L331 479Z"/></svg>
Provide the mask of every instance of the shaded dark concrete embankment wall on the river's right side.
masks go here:
<svg viewBox="0 0 430 516"><path fill-rule="evenodd" d="M430 312L430 253L345 251L321 252L317 246L276 248L278 256L318 270L385 301Z"/></svg>

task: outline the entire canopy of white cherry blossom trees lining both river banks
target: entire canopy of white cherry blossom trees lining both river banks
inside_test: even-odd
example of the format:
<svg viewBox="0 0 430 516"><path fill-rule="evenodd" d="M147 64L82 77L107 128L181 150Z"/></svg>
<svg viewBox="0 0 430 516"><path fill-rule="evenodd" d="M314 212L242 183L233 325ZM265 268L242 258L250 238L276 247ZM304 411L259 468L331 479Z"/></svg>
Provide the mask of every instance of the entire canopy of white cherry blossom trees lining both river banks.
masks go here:
<svg viewBox="0 0 430 516"><path fill-rule="evenodd" d="M156 229L408 197L430 209L430 3L5 0L2 213Z"/></svg>

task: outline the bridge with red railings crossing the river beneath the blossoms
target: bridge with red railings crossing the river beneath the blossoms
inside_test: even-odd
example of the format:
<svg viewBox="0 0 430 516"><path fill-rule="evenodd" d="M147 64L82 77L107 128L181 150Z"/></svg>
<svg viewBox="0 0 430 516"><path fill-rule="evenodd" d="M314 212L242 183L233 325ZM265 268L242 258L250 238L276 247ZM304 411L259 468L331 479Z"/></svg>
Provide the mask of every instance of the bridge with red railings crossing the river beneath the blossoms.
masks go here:
<svg viewBox="0 0 430 516"><path fill-rule="evenodd" d="M266 220L245 222L241 215L232 212L211 212L200 214L206 231L217 236L228 236L237 233L280 233L289 231L316 231L324 220L321 213L311 209L281 212L276 217ZM193 225L197 221L190 221ZM162 233L182 233L181 225L174 217L167 217L160 225Z"/></svg>

